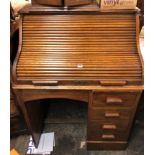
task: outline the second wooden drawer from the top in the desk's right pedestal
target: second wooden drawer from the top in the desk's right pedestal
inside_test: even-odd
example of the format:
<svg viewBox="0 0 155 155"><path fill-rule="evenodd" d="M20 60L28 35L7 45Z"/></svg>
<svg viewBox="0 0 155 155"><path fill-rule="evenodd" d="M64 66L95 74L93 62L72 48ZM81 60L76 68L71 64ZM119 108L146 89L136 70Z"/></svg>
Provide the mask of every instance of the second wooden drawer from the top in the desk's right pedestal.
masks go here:
<svg viewBox="0 0 155 155"><path fill-rule="evenodd" d="M90 120L116 120L129 119L132 109L89 109Z"/></svg>

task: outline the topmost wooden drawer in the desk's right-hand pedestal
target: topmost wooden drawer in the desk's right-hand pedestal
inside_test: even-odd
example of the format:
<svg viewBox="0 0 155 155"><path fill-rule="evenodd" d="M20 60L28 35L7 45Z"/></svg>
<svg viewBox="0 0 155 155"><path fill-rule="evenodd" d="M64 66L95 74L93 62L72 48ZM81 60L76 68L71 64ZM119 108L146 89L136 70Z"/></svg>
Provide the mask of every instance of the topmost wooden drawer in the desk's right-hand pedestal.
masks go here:
<svg viewBox="0 0 155 155"><path fill-rule="evenodd" d="M94 107L134 106L138 93L130 92L93 92Z"/></svg>

